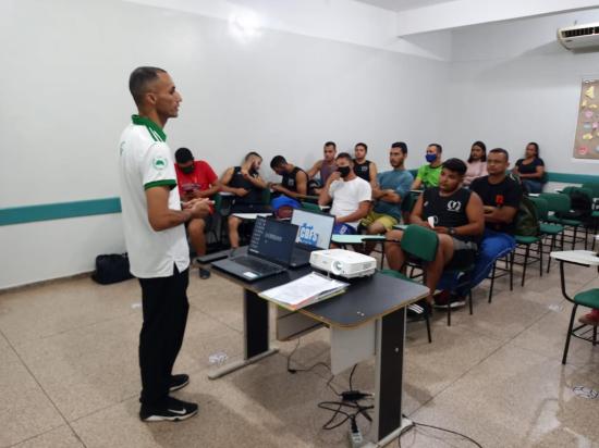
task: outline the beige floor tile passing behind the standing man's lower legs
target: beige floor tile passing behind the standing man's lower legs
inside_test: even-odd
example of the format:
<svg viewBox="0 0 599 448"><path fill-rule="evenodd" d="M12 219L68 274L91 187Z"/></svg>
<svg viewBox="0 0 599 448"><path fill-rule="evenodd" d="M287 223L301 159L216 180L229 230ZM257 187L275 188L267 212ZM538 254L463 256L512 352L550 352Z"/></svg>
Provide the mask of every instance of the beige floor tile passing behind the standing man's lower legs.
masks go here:
<svg viewBox="0 0 599 448"><path fill-rule="evenodd" d="M62 333L17 346L24 362L72 421L98 409L137 396L140 389L138 334L140 310L109 322ZM240 335L228 326L194 311L175 371L208 366L216 348L241 350Z"/></svg>

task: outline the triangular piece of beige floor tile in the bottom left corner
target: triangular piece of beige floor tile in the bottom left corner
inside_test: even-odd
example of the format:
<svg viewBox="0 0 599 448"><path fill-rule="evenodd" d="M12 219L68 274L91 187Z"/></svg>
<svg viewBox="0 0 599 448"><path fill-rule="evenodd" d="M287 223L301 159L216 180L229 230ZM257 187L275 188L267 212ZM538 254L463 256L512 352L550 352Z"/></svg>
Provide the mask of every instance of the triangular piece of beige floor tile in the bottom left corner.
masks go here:
<svg viewBox="0 0 599 448"><path fill-rule="evenodd" d="M64 424L64 420L11 348L0 348L0 447Z"/></svg>

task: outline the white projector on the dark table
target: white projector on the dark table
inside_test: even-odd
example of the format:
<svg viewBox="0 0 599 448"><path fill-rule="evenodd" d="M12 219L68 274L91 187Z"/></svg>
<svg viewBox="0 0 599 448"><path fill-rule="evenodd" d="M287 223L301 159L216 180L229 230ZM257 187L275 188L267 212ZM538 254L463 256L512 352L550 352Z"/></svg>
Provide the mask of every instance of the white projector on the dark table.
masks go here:
<svg viewBox="0 0 599 448"><path fill-rule="evenodd" d="M365 277L377 270L372 257L344 249L315 250L310 254L310 265L345 278Z"/></svg>

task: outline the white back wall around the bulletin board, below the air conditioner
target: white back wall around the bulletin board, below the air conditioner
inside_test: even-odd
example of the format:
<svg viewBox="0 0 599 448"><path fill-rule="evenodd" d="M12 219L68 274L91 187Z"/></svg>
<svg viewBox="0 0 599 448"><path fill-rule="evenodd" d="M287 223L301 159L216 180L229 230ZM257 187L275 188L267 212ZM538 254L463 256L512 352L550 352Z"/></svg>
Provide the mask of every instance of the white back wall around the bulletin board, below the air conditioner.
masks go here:
<svg viewBox="0 0 599 448"><path fill-rule="evenodd" d="M572 160L584 75L599 75L599 52L572 53L555 39L575 21L599 21L599 10L473 26L453 32L448 112L449 154L466 157L481 139L513 161L537 141L548 171L598 174Z"/></svg>

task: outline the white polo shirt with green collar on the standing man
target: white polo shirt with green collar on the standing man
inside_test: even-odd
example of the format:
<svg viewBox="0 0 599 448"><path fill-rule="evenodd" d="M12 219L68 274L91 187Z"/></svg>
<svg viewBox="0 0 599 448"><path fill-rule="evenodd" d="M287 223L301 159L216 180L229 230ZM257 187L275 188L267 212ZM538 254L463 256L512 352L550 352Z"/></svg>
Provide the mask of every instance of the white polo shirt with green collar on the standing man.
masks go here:
<svg viewBox="0 0 599 448"><path fill-rule="evenodd" d="M190 266L183 224L156 232L148 220L148 188L171 189L169 209L181 210L176 174L167 135L151 120L133 115L119 145L121 209L131 273L138 278L168 277Z"/></svg>

